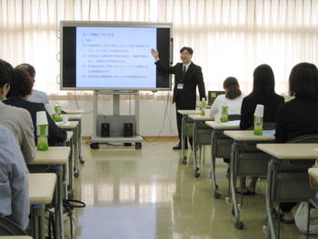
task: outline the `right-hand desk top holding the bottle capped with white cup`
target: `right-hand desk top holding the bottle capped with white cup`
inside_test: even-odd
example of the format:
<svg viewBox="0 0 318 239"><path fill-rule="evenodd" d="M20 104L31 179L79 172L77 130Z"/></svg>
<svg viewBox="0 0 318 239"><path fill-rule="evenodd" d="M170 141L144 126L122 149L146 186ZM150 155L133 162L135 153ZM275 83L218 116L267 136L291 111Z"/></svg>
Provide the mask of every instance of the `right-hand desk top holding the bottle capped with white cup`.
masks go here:
<svg viewBox="0 0 318 239"><path fill-rule="evenodd" d="M253 130L226 130L226 136L237 141L273 141L275 136L255 135Z"/></svg>

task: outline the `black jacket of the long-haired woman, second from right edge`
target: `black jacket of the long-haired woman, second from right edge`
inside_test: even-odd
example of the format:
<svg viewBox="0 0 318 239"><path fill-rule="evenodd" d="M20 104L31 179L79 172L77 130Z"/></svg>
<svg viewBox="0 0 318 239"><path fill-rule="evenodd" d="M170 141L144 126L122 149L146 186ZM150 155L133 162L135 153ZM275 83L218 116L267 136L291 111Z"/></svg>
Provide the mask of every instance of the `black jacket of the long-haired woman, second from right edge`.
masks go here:
<svg viewBox="0 0 318 239"><path fill-rule="evenodd" d="M253 115L256 105L263 105L263 123L275 122L278 105L283 104L283 96L250 94L243 98L241 106L240 128L245 130L253 126Z"/></svg>

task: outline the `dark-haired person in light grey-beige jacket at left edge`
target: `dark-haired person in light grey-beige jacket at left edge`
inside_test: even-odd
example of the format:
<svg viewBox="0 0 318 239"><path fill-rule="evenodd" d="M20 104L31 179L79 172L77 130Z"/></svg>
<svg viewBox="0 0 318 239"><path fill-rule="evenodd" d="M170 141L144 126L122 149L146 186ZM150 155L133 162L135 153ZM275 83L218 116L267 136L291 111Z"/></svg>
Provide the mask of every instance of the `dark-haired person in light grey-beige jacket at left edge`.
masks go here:
<svg viewBox="0 0 318 239"><path fill-rule="evenodd" d="M36 154L35 127L31 115L25 109L5 105L1 102L10 89L13 75L13 67L0 59L0 124L5 125L14 134L25 158L25 163L30 164L35 159Z"/></svg>

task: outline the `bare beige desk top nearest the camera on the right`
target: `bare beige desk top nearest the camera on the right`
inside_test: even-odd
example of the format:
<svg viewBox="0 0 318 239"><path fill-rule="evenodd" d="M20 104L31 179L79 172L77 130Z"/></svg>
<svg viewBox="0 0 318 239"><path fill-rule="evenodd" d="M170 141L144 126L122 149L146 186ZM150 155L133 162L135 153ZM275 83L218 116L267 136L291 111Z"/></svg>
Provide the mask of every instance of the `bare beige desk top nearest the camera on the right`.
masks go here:
<svg viewBox="0 0 318 239"><path fill-rule="evenodd" d="M256 147L279 159L318 158L318 144L257 144Z"/></svg>

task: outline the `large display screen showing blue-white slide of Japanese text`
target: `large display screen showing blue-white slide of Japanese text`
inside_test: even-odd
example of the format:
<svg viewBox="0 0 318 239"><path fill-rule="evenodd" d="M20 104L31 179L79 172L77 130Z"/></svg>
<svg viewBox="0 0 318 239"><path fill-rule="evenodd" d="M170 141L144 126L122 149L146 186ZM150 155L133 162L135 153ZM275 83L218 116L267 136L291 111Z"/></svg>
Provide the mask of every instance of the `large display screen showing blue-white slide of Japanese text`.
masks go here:
<svg viewBox="0 0 318 239"><path fill-rule="evenodd" d="M60 43L62 90L171 90L170 23L62 21Z"/></svg>

